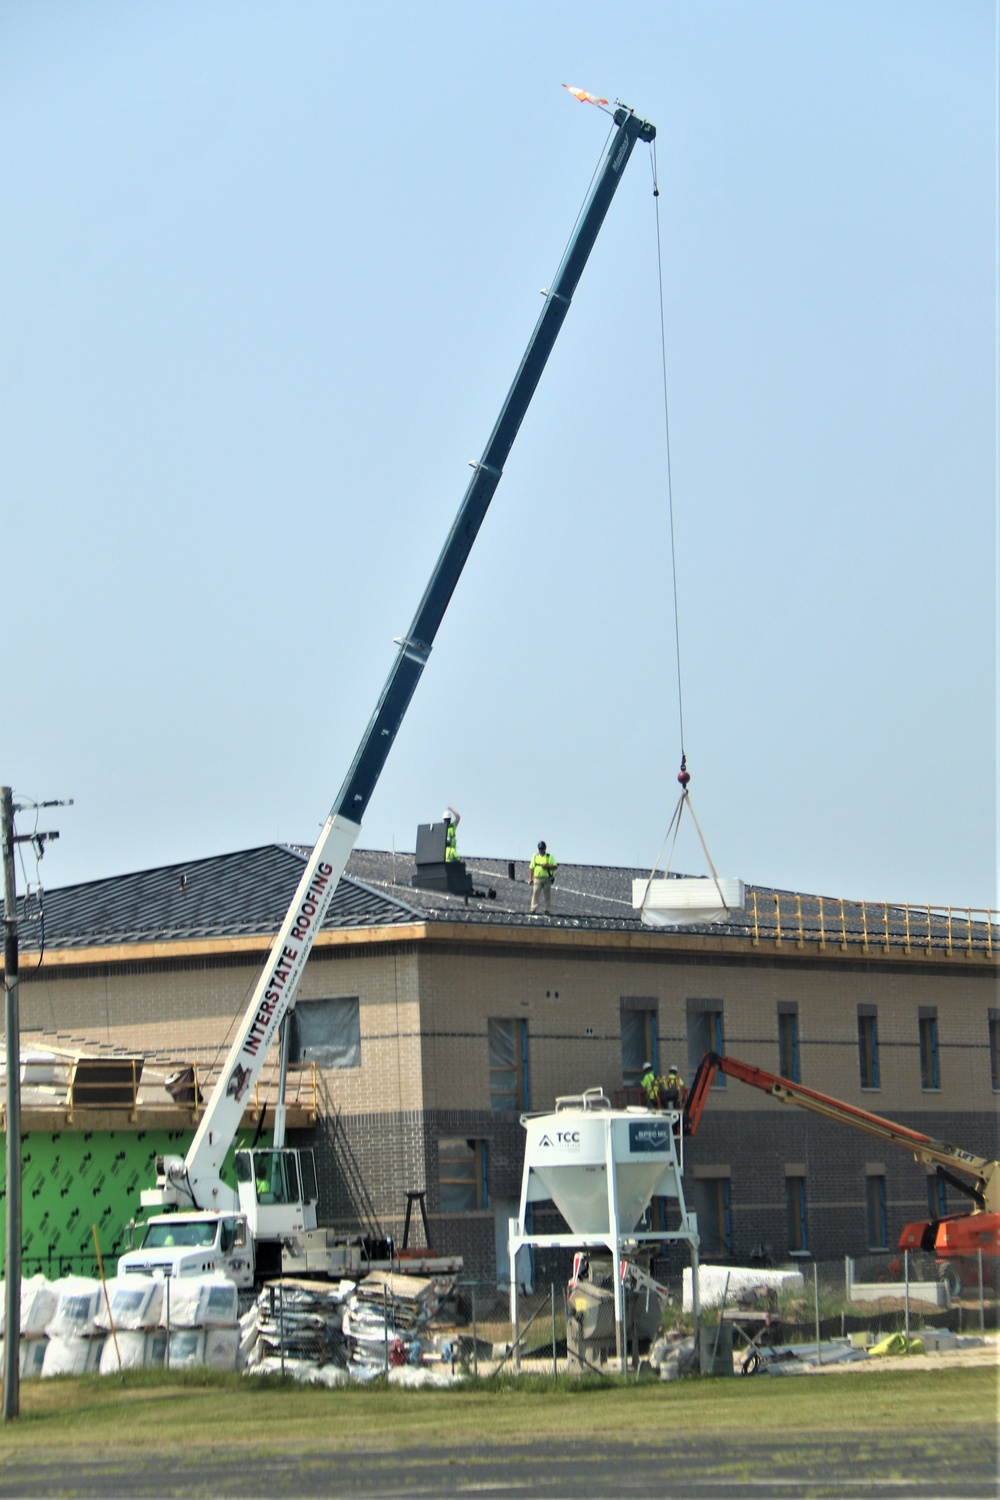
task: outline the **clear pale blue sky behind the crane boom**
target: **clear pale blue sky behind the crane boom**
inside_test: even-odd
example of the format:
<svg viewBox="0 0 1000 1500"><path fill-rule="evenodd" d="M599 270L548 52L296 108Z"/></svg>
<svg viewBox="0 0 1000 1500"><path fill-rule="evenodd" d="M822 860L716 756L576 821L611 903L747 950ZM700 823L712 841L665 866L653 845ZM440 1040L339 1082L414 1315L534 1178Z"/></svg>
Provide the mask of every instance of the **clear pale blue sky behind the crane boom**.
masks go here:
<svg viewBox="0 0 1000 1500"><path fill-rule="evenodd" d="M994 0L7 0L0 778L75 798L48 885L315 837L604 144L562 82L658 128L717 868L1000 904ZM367 846L451 802L469 854L661 848L651 188L640 147Z"/></svg>

